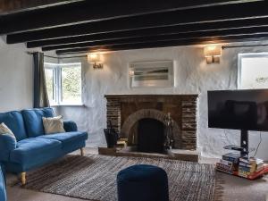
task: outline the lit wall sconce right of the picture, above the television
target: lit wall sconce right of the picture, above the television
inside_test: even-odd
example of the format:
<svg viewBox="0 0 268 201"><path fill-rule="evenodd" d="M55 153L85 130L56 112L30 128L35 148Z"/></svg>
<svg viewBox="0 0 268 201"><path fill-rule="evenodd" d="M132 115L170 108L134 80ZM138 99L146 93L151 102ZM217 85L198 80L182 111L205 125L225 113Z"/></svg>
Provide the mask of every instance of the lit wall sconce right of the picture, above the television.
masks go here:
<svg viewBox="0 0 268 201"><path fill-rule="evenodd" d="M221 46L205 46L204 54L206 63L220 63L220 57L222 56Z"/></svg>

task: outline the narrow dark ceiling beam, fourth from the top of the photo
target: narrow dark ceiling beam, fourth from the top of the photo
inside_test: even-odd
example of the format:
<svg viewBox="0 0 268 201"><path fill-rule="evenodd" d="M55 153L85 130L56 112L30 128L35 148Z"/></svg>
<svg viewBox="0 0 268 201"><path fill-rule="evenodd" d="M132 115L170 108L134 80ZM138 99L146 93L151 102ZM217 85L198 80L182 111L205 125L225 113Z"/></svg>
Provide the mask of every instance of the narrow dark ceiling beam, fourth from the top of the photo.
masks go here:
<svg viewBox="0 0 268 201"><path fill-rule="evenodd" d="M263 38L268 36L268 27L261 28L249 28L249 29L225 29L225 30L214 30L206 32L195 32L195 33L180 33L180 34L165 34L160 36L149 36L149 37L138 37L138 38L121 38L111 39L105 41L86 42L70 45L59 45L59 46L45 46L42 48L43 51L61 50L70 48L90 47L90 46L111 46L121 45L128 43L140 43L140 42L154 42L154 41L169 41L169 40L184 40L194 38L222 38L229 36L260 36Z"/></svg>

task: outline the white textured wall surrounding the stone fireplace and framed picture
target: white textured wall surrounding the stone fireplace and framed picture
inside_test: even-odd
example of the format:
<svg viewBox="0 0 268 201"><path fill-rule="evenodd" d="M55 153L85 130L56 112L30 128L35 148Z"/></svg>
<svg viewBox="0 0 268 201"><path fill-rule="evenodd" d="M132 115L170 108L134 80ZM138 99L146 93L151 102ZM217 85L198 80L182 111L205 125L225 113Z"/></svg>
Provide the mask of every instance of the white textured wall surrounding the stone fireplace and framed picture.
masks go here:
<svg viewBox="0 0 268 201"><path fill-rule="evenodd" d="M197 46L167 47L121 51L104 55L104 70L93 70L86 59L83 63L84 107L62 107L65 119L78 122L80 130L88 130L88 147L105 145L105 94L199 94L198 147L205 156L220 156L222 147L239 144L238 130L207 128L206 91L234 89L237 87L237 63L239 53L264 52L267 47L225 49L220 64L206 64L203 48ZM174 60L175 88L136 88L128 86L128 64L131 62ZM65 59L62 62L78 62ZM250 132L250 145L256 147L258 132ZM268 160L268 133L263 133L263 142L258 157Z"/></svg>

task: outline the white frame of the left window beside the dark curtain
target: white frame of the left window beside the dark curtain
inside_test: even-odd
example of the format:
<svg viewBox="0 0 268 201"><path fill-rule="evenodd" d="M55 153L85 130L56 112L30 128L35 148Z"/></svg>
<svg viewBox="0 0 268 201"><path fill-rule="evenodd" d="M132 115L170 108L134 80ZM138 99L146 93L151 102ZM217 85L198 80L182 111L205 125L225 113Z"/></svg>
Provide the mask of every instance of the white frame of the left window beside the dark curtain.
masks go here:
<svg viewBox="0 0 268 201"><path fill-rule="evenodd" d="M81 71L81 97L80 103L64 103L63 102L63 88L62 88L62 69L63 68L72 68L72 67L80 67ZM46 69L53 69L53 81L54 81L54 100L51 106L61 106L61 105L83 105L82 103L82 63L44 63L45 70Z"/></svg>

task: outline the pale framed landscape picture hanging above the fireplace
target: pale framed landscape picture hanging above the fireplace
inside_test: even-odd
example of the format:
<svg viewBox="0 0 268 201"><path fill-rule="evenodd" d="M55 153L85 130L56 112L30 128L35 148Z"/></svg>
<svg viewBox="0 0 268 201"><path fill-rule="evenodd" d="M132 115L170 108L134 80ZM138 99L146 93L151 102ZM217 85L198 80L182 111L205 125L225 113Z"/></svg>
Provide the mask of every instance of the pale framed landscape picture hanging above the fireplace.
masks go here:
<svg viewBox="0 0 268 201"><path fill-rule="evenodd" d="M130 63L130 88L174 87L173 61Z"/></svg>

